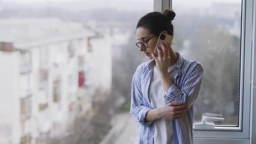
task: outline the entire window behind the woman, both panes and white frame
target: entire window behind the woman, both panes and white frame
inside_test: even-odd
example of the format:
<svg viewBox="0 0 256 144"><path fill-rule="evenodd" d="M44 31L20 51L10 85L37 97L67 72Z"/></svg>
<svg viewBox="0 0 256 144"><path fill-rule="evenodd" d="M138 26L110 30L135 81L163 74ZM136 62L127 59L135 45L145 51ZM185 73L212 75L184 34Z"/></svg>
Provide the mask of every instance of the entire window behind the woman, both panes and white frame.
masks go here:
<svg viewBox="0 0 256 144"><path fill-rule="evenodd" d="M24 135L22 124L11 123L10 135L16 137L10 143L43 139L46 144L131 144L136 136L128 114L131 79L137 66L148 60L135 45L136 24L144 14L168 8L177 14L174 50L205 69L195 122L202 115L225 118L214 122L214 129L195 128L195 144L247 144L253 0L2 0L1 56L20 71L1 68L0 75L9 74L7 79L20 88L8 85L9 91L0 90L0 96L13 95L6 101L19 101L20 107L10 114L20 113L21 121L29 118L34 126ZM44 89L50 101L40 105L37 97ZM35 118L49 111L47 128L30 118L32 111ZM122 129L113 133L116 126ZM108 139L113 135L118 136Z"/></svg>

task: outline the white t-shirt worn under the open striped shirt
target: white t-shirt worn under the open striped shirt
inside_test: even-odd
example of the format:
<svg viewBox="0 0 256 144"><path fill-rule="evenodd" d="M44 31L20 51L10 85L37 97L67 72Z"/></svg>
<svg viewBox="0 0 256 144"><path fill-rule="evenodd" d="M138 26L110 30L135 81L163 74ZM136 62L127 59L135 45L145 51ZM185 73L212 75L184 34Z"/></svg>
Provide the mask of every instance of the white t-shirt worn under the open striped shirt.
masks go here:
<svg viewBox="0 0 256 144"><path fill-rule="evenodd" d="M176 71L174 65L168 68L171 79L174 79ZM148 90L148 98L153 108L160 108L167 105L164 102L164 90L159 76L158 69L154 66L154 72ZM172 121L160 118L154 121L154 144L174 144Z"/></svg>

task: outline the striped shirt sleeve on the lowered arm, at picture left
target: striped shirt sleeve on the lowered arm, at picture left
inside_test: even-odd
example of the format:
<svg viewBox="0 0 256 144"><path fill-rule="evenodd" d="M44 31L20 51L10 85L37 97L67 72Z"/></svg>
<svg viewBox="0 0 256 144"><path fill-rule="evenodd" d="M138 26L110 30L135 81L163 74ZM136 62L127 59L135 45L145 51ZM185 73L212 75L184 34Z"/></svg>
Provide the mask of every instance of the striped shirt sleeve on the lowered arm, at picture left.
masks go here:
<svg viewBox="0 0 256 144"><path fill-rule="evenodd" d="M145 121L145 118L146 118L146 114L151 109L152 108L149 108L143 105L143 96L141 93L141 84L138 79L138 69L137 69L135 74L133 75L132 83L131 83L130 114L133 118L135 118L135 121L137 121L139 124L149 127L153 123L153 121Z"/></svg>

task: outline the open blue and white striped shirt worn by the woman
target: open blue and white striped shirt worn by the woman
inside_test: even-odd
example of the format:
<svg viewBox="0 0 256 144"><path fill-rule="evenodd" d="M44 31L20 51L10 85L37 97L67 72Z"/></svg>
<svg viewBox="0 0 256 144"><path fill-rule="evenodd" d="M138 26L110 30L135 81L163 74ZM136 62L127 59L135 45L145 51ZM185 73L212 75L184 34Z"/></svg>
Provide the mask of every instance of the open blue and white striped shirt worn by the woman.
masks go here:
<svg viewBox="0 0 256 144"><path fill-rule="evenodd" d="M178 59L175 66L177 74L174 84L164 93L164 101L184 102L189 105L189 111L183 117L172 120L175 144L193 144L194 101L200 91L203 77L203 66L196 61L184 59L176 52ZM155 60L144 62L138 66L131 84L130 114L137 126L138 144L154 144L154 121L145 121L146 114L153 109L148 99L148 88Z"/></svg>

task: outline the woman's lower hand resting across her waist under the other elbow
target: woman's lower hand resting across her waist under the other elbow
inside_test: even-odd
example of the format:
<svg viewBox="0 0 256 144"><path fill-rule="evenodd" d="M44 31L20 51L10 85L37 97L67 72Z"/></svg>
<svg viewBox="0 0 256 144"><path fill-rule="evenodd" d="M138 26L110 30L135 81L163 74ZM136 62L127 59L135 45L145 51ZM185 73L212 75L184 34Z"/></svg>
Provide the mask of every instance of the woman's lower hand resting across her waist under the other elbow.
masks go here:
<svg viewBox="0 0 256 144"><path fill-rule="evenodd" d="M188 105L184 105L182 102L172 102L158 110L161 118L176 120L187 113Z"/></svg>

